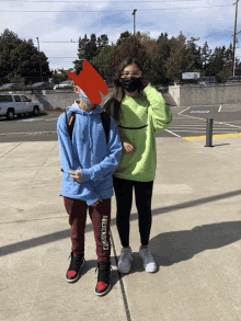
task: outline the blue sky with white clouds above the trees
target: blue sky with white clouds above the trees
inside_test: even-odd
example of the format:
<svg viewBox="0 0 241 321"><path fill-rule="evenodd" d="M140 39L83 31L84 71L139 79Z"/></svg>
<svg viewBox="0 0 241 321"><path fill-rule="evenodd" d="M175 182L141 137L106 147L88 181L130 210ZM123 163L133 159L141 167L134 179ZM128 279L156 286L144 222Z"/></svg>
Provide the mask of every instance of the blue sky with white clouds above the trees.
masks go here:
<svg viewBox="0 0 241 321"><path fill-rule="evenodd" d="M87 34L90 37L95 33L97 37L106 34L110 44L112 42L115 44L120 33L125 31L133 33L134 9L137 9L136 31L149 32L152 38L158 38L161 32L167 32L169 38L176 37L182 31L187 41L191 37L199 37L196 44L203 46L207 42L213 50L216 46L228 47L233 42L236 5L232 3L236 0L0 0L0 33L9 28L20 38L32 38L35 46L38 37L41 50L49 57L50 69L73 67L79 36L83 37ZM237 32L240 31L238 10ZM237 37L241 41L241 33ZM76 43L46 43L71 42L71 39ZM240 56L241 59L239 42L236 56Z"/></svg>

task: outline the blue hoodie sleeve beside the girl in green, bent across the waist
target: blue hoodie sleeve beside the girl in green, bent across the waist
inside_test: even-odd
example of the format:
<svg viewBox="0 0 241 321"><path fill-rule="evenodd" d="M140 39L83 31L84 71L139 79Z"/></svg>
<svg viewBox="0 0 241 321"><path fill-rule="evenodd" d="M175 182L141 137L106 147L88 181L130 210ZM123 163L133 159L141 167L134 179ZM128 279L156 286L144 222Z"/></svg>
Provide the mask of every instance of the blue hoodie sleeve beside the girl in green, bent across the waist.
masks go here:
<svg viewBox="0 0 241 321"><path fill-rule="evenodd" d="M90 169L82 169L82 182L103 180L107 174L113 174L122 158L122 141L118 134L118 127L111 116L111 126L108 133L108 144L106 157L99 164Z"/></svg>

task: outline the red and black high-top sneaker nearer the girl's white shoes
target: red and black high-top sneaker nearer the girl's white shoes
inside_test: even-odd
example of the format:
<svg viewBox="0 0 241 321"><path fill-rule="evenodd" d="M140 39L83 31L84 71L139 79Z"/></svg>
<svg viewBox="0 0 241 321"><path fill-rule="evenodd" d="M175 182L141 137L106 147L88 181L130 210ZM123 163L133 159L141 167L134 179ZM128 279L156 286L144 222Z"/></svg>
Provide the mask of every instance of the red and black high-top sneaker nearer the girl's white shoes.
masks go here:
<svg viewBox="0 0 241 321"><path fill-rule="evenodd" d="M96 270L99 270L99 273L97 273L97 284L95 287L95 295L104 296L111 289L111 262L110 261L106 263L97 262L97 267L95 268L95 273L96 273Z"/></svg>

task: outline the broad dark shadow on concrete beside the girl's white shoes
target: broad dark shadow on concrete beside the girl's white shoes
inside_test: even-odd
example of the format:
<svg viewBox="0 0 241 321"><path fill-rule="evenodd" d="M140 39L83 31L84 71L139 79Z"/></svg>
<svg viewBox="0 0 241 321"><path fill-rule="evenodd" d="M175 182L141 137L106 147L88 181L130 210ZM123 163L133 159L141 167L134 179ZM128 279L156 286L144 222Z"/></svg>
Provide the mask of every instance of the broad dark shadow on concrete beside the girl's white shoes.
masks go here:
<svg viewBox="0 0 241 321"><path fill-rule="evenodd" d="M160 233L149 242L159 266L192 259L206 250L215 250L241 239L241 221L226 221L195 227L192 230Z"/></svg>

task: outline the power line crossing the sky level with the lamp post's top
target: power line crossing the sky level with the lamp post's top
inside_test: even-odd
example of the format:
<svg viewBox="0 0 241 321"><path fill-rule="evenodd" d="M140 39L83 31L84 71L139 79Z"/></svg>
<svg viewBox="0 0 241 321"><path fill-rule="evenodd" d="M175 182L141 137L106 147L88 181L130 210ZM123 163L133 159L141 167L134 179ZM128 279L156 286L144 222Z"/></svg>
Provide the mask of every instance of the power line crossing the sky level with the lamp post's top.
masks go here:
<svg viewBox="0 0 241 321"><path fill-rule="evenodd" d="M203 9L203 8L216 8L216 7L231 7L231 4L227 4L227 5L209 5L209 7L182 7L182 8L164 8L164 9L159 9L159 8L157 8L157 9L145 9L145 10L139 10L138 9L138 11L156 11L156 10L180 10L180 9ZM0 10L0 12L11 12L11 13L14 13L14 12L69 12L69 13L78 13L78 12L113 12L113 11L120 11L120 12L123 12L123 11L133 11L133 9L131 10L123 10L123 9L120 9L120 10L108 10L108 11L101 11L101 10L97 10L97 11L94 11L94 10L91 10L91 11L84 11L84 10L61 10L61 11L49 11L49 10L42 10L42 11L26 11L26 10L21 10L21 11L12 11L12 10Z"/></svg>

